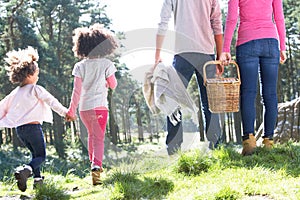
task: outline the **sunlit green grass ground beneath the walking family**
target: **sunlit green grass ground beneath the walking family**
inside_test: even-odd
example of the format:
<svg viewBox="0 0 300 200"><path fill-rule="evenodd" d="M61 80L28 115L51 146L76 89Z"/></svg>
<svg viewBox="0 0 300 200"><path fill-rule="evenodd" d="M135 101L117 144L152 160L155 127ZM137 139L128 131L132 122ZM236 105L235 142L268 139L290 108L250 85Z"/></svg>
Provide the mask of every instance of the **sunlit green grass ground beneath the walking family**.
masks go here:
<svg viewBox="0 0 300 200"><path fill-rule="evenodd" d="M133 146L127 149L143 148ZM28 160L29 154L10 149L2 147L0 152L0 199L300 199L299 143L272 150L258 147L247 157L240 155L238 145L214 151L195 148L171 157L152 150L127 152L118 159L106 157L103 184L98 186L91 185L89 162L80 152L70 149L72 156L61 161L48 148L45 184L33 190L31 178L26 192L18 190L12 174L19 158Z"/></svg>

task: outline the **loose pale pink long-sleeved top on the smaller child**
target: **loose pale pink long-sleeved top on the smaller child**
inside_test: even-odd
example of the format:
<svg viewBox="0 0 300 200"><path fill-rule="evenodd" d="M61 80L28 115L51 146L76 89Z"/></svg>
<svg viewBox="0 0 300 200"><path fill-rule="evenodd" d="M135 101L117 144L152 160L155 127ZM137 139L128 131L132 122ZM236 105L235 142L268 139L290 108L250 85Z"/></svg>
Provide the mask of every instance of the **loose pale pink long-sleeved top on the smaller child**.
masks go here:
<svg viewBox="0 0 300 200"><path fill-rule="evenodd" d="M14 128L30 122L53 122L52 110L65 116L68 109L40 85L16 87L0 101L0 127Z"/></svg>

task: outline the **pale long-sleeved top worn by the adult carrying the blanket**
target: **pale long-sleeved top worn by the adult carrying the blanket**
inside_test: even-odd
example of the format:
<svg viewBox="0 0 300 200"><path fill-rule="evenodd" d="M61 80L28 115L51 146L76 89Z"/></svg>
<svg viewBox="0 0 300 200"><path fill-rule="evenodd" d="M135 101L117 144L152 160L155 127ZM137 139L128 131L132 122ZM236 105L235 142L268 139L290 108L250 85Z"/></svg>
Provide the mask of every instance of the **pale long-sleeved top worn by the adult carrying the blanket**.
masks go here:
<svg viewBox="0 0 300 200"><path fill-rule="evenodd" d="M175 53L214 54L214 35L223 33L219 0L164 0L158 35L166 35L172 13Z"/></svg>

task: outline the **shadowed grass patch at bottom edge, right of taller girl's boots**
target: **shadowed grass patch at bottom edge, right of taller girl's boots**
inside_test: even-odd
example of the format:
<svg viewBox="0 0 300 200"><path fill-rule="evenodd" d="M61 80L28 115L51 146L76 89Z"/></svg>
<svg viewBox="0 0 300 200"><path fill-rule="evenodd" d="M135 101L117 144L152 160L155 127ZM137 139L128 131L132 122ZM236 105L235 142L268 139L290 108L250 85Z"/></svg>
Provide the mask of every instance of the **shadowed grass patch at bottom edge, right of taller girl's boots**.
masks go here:
<svg viewBox="0 0 300 200"><path fill-rule="evenodd" d="M113 185L110 199L164 199L174 189L174 183L164 178L121 172L114 172L104 185Z"/></svg>

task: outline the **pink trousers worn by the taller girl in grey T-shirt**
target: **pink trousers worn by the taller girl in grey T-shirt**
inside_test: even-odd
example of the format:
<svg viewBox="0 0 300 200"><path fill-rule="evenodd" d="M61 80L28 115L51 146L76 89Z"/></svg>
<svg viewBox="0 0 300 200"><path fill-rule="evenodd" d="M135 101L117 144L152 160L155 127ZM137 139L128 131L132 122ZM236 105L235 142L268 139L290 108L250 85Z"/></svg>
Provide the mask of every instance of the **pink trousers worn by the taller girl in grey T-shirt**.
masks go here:
<svg viewBox="0 0 300 200"><path fill-rule="evenodd" d="M88 131L89 159L92 164L102 167L108 110L80 111L80 117Z"/></svg>

